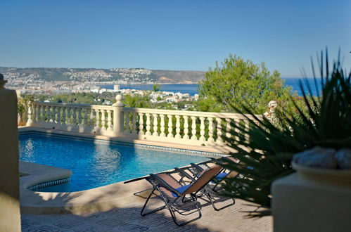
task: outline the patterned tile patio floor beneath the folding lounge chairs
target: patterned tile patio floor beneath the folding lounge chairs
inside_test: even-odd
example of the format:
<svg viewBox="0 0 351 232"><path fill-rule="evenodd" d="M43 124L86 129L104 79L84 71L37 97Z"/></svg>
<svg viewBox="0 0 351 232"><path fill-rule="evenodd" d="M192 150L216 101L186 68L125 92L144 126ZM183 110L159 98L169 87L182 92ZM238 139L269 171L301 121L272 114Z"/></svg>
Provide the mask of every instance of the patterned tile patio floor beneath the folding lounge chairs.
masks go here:
<svg viewBox="0 0 351 232"><path fill-rule="evenodd" d="M201 202L203 202L201 200ZM226 201L228 202L228 201ZM219 202L223 204L224 202ZM89 215L74 214L22 214L23 231L272 231L272 217L252 219L245 217L250 210L246 202L236 204L219 212L205 205L203 217L186 226L176 226L168 210L140 216L141 202L126 205L108 212ZM159 205L154 202L153 206ZM189 216L187 216L188 218Z"/></svg>

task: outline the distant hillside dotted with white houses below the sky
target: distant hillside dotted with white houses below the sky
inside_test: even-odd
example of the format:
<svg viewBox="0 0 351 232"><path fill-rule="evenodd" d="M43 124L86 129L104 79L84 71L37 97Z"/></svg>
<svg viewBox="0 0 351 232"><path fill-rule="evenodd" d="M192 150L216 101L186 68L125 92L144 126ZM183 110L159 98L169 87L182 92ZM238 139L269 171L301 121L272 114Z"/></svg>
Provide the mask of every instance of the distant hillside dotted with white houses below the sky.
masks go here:
<svg viewBox="0 0 351 232"><path fill-rule="evenodd" d="M117 82L120 84L179 83L195 84L204 78L202 71L146 70L143 68L58 68L0 67L5 79L74 82Z"/></svg>

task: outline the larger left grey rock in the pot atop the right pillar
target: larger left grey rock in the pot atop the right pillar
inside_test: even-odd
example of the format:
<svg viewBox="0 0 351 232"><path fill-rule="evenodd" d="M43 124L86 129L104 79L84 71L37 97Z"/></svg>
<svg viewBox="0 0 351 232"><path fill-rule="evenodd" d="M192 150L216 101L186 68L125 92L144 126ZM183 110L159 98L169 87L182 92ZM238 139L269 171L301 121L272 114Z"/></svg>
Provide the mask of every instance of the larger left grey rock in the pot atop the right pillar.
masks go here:
<svg viewBox="0 0 351 232"><path fill-rule="evenodd" d="M293 162L307 167L336 169L338 163L334 157L336 150L319 146L302 151L293 156Z"/></svg>

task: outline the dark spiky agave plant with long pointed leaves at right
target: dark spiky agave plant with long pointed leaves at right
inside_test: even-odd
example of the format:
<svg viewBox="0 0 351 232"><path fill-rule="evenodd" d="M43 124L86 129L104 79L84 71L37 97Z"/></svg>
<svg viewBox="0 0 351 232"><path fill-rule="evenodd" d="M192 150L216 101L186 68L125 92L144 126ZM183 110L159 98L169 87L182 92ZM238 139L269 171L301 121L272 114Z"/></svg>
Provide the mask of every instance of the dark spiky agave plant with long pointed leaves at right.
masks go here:
<svg viewBox="0 0 351 232"><path fill-rule="evenodd" d="M314 146L351 148L351 72L347 75L339 61L333 63L330 72L327 51L325 57L323 67L324 56L321 53L321 96L310 97L312 91L309 84L306 82L306 91L300 82L303 104L298 105L291 99L293 111L279 110L276 120L271 122L256 117L250 109L245 108L245 112L241 113L254 118L251 120L247 117L252 124L250 129L246 131L240 125L231 125L234 129L225 141L237 150L237 153L230 155L241 162L219 161L222 166L239 173L226 179L223 194L257 205L260 210L250 212L250 217L270 214L274 197L271 194L272 182L294 172L291 160L295 153ZM315 75L314 80L318 88ZM245 133L250 136L248 141Z"/></svg>

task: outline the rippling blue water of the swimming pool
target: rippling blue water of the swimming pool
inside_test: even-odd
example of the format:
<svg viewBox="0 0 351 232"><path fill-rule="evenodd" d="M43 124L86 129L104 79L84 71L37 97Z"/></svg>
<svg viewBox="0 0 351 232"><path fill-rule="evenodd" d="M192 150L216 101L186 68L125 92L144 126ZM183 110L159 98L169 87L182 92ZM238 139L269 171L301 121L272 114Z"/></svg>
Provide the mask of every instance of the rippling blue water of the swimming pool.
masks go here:
<svg viewBox="0 0 351 232"><path fill-rule="evenodd" d="M43 134L20 135L19 143L20 160L72 170L69 183L39 190L46 192L82 191L209 159Z"/></svg>

